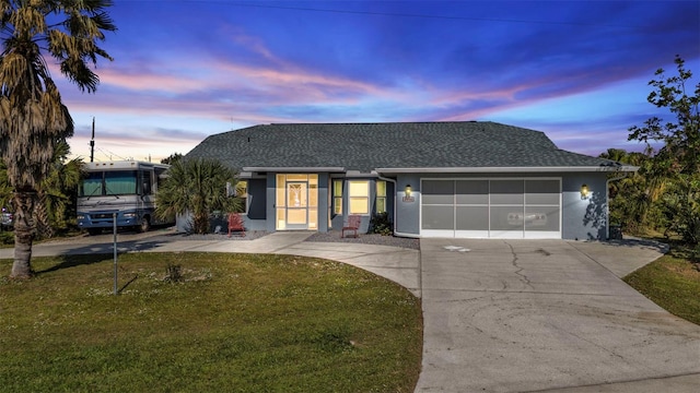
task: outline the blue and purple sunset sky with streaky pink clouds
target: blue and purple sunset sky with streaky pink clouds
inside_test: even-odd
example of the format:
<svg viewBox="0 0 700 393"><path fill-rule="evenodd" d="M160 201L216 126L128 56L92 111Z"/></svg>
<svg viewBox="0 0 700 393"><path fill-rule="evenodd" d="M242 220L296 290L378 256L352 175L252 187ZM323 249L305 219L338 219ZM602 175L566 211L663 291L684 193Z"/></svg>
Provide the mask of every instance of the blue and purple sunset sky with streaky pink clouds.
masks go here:
<svg viewBox="0 0 700 393"><path fill-rule="evenodd" d="M60 82L72 153L153 160L259 123L480 120L598 155L653 115L700 1L115 0L96 94ZM58 78L58 71L55 72ZM697 83L697 79L696 79ZM692 87L692 86L690 86Z"/></svg>

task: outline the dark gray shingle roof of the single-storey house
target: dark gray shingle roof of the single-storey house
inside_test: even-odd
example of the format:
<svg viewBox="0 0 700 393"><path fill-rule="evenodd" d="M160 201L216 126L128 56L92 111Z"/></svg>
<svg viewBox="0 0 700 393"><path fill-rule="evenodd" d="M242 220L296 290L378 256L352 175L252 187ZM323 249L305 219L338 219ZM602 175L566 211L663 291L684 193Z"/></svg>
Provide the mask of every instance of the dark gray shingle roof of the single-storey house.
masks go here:
<svg viewBox="0 0 700 393"><path fill-rule="evenodd" d="M211 135L187 158L244 167L604 167L558 148L544 132L490 121L262 124Z"/></svg>

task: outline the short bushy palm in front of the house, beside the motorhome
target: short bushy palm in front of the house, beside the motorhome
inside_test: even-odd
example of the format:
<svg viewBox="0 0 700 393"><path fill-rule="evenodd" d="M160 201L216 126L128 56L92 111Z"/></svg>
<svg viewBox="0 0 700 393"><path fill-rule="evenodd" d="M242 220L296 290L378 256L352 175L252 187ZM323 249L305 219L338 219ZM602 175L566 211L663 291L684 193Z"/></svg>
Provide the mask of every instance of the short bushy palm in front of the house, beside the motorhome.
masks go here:
<svg viewBox="0 0 700 393"><path fill-rule="evenodd" d="M207 234L209 217L214 211L237 212L241 209L241 199L226 191L232 187L236 187L236 172L219 160L178 159L158 189L155 214L165 218L189 213L192 231Z"/></svg>

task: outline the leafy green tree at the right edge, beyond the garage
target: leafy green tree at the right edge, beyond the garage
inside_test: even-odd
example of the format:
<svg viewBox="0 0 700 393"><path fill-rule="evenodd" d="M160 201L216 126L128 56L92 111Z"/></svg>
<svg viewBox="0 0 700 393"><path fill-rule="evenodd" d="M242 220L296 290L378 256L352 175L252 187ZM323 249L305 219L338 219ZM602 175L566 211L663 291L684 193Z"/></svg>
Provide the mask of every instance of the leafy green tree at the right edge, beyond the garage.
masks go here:
<svg viewBox="0 0 700 393"><path fill-rule="evenodd" d="M662 142L651 165L642 175L667 179L662 207L668 217L667 230L679 234L686 241L700 241L700 83L695 92L687 84L692 72L676 56L677 74L665 76L663 69L649 84L653 86L646 100L657 108L666 108L675 121L664 122L652 117L641 127L629 129L629 140ZM695 94L695 95L693 95Z"/></svg>

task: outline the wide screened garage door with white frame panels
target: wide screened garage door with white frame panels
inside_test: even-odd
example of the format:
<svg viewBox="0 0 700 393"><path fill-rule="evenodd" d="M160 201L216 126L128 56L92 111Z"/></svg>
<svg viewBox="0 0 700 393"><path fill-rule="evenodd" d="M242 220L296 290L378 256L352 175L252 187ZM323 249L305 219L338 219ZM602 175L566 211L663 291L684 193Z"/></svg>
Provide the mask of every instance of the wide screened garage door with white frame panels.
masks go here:
<svg viewBox="0 0 700 393"><path fill-rule="evenodd" d="M421 236L561 239L561 179L422 179Z"/></svg>

